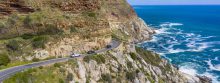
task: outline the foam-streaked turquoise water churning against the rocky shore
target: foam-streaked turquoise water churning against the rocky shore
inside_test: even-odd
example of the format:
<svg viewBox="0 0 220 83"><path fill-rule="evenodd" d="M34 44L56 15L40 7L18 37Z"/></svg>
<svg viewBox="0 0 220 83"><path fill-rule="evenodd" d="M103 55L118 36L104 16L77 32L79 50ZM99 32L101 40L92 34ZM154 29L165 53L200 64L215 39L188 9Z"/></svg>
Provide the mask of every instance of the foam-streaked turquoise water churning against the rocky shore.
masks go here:
<svg viewBox="0 0 220 83"><path fill-rule="evenodd" d="M203 58L211 56L209 52L219 52L220 49L215 46L220 45L220 41L208 41L215 36L202 36L177 28L183 25L182 23L162 23L152 40L146 41L141 46L163 55L164 58L178 65L181 72L192 76L205 75L212 78L213 83L220 83L218 81L220 77L213 73L213 71L220 72L220 64L212 64L212 60L219 61L219 57L214 57L212 60ZM206 67L207 65L209 67Z"/></svg>

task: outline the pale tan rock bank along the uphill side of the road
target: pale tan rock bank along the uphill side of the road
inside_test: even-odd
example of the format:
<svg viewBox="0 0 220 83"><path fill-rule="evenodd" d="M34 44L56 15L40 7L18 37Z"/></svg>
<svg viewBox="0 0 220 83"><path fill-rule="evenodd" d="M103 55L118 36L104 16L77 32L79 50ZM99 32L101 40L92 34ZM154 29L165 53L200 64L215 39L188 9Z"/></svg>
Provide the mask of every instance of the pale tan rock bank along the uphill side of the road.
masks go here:
<svg viewBox="0 0 220 83"><path fill-rule="evenodd" d="M72 53L87 52L92 49L104 48L111 42L111 38L94 38L93 40L82 40L79 37L63 38L57 43L48 43L47 49L38 49L34 52L34 57L46 59L51 56L64 57Z"/></svg>

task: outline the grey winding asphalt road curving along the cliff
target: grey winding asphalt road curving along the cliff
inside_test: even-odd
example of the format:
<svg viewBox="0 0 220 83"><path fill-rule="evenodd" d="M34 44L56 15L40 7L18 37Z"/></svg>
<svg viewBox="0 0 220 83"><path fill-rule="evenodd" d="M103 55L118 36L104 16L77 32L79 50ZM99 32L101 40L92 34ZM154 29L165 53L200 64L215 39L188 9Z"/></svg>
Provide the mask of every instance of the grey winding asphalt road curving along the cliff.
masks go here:
<svg viewBox="0 0 220 83"><path fill-rule="evenodd" d="M110 48L103 48L103 49L95 51L95 53L102 53L102 52L106 52L108 50L112 50L114 48L117 48L120 45L120 42L116 41L116 40L112 40L109 45L111 45ZM81 56L81 58L83 58L85 56L90 56L90 55L84 55L84 56ZM0 83L2 83L3 80L9 78L10 76L16 74L17 72L21 72L25 69L40 67L40 66L59 63L59 62L65 62L65 61L68 61L69 59L71 59L71 58L51 59L51 60L40 61L40 62L35 62L35 63L27 64L27 65L21 65L21 66L16 66L16 67L11 67L8 69L0 70Z"/></svg>

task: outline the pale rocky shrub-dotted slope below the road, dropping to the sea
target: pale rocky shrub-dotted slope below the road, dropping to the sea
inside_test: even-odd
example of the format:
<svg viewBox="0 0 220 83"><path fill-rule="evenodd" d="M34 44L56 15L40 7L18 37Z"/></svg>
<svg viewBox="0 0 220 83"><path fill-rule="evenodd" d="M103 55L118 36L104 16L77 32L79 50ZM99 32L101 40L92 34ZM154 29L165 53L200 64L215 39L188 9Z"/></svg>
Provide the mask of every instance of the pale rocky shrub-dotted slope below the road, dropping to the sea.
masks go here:
<svg viewBox="0 0 220 83"><path fill-rule="evenodd" d="M131 49L129 46L131 50L125 47L127 44L121 44L112 51L100 54L105 57L103 63L99 63L96 59L87 62L84 58L77 60L78 67L66 64L64 68L71 69L67 72L74 71L73 81L79 83L205 83L198 78L186 78L176 68L168 65L166 60L157 58L161 62L157 62L159 65L156 66L142 57L157 56L154 53L142 55L134 49L135 47Z"/></svg>

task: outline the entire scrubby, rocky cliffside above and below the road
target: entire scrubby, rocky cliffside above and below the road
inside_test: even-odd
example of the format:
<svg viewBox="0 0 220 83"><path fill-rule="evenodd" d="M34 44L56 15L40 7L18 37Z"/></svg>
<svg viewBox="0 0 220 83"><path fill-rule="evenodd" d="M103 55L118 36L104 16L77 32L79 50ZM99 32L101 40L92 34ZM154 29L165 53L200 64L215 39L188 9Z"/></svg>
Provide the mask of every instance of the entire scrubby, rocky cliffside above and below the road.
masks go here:
<svg viewBox="0 0 220 83"><path fill-rule="evenodd" d="M38 54L67 56L105 47L101 41L121 41L111 51L28 69L5 83L185 82L159 55L135 47L153 31L125 0L3 0L0 5L5 10L0 11L0 68L40 61ZM86 44L93 46L81 49Z"/></svg>

